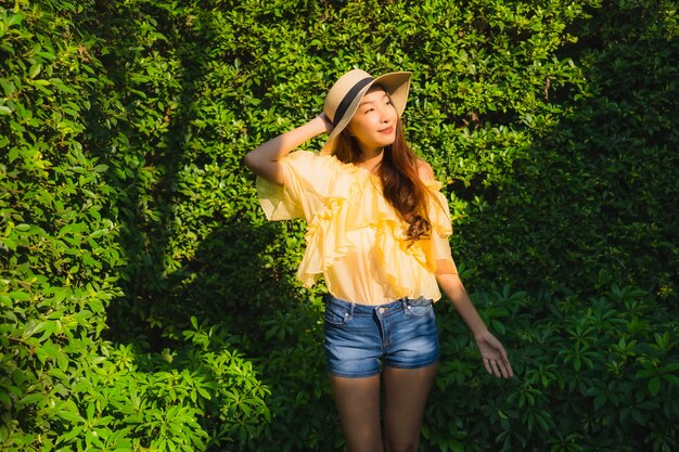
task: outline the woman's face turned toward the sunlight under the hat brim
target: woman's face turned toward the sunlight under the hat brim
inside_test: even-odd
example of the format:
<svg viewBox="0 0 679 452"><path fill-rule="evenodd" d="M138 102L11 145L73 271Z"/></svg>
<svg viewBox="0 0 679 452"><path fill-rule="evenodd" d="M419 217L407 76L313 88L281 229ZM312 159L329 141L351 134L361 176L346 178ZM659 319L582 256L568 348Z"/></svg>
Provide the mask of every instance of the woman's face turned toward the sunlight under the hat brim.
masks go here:
<svg viewBox="0 0 679 452"><path fill-rule="evenodd" d="M374 152L396 140L398 113L384 89L373 86L368 90L347 126L363 153Z"/></svg>

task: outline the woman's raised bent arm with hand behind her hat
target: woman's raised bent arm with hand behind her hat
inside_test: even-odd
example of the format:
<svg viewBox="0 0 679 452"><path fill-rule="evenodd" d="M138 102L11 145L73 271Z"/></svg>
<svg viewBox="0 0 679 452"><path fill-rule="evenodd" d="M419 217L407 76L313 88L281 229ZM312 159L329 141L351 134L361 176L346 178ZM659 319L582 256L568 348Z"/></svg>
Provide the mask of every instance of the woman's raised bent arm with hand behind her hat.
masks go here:
<svg viewBox="0 0 679 452"><path fill-rule="evenodd" d="M321 133L330 133L331 130L332 124L322 113L305 125L278 135L248 152L243 163L257 176L282 185L284 178L280 160L300 144Z"/></svg>

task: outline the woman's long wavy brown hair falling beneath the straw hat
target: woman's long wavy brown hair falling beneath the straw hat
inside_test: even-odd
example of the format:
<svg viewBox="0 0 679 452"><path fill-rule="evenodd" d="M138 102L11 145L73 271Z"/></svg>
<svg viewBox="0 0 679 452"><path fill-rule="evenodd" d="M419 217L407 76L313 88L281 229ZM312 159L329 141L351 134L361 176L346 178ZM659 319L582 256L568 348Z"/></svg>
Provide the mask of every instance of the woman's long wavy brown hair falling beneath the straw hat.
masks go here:
<svg viewBox="0 0 679 452"><path fill-rule="evenodd" d="M337 137L333 155L345 164L357 164L362 160L358 141L347 129ZM400 118L396 122L394 143L383 151L377 176L382 181L384 197L408 224L408 241L412 243L428 237L432 231L426 214L430 190L420 179L418 157L406 142Z"/></svg>

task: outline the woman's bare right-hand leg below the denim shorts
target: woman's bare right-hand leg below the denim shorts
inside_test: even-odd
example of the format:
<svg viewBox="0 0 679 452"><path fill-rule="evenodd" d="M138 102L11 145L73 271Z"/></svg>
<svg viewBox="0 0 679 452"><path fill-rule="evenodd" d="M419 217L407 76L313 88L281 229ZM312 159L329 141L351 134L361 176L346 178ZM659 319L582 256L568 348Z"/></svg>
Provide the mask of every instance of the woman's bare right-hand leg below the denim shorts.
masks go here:
<svg viewBox="0 0 679 452"><path fill-rule="evenodd" d="M384 430L387 452L417 452L426 399L437 364L384 370Z"/></svg>

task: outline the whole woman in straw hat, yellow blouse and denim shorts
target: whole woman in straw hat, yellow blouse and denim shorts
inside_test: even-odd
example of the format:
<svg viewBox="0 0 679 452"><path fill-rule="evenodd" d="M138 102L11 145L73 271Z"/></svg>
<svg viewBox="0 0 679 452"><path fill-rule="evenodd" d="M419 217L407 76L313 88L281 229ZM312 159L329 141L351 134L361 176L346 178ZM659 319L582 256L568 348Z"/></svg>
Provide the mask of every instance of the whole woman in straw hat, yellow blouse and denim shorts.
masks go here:
<svg viewBox="0 0 679 452"><path fill-rule="evenodd" d="M350 452L418 450L439 357L432 307L439 287L472 331L487 372L513 375L458 276L440 184L403 139L410 76L350 70L328 92L321 115L245 156L267 217L308 222L297 276L311 286L322 275L328 286L328 372ZM291 153L321 133L329 138L320 154Z"/></svg>

